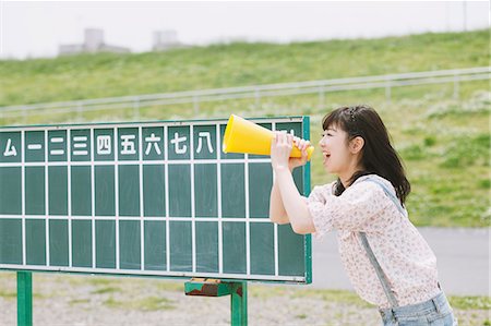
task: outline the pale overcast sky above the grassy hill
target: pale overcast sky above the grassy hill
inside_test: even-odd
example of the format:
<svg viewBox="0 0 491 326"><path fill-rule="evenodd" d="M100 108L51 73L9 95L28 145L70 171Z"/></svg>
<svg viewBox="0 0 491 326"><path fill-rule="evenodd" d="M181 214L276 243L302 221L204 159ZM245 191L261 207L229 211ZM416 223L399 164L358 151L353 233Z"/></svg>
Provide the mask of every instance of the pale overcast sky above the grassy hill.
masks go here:
<svg viewBox="0 0 491 326"><path fill-rule="evenodd" d="M190 45L380 37L489 27L488 1L395 2L20 2L0 0L0 58L53 57L82 44L84 28L105 43L148 51L153 32L175 29Z"/></svg>

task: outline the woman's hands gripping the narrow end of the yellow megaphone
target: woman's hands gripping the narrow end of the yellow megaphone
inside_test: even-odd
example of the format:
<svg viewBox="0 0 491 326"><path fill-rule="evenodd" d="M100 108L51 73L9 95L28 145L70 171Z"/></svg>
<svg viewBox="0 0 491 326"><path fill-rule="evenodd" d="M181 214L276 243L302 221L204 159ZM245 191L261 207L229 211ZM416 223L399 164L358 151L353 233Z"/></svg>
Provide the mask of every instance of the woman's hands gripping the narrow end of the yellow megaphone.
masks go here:
<svg viewBox="0 0 491 326"><path fill-rule="evenodd" d="M288 168L292 171L297 167L301 167L307 164L307 148L310 146L310 142L294 137L291 134L283 132L274 132L275 137L271 142L271 165L273 169ZM302 152L302 157L290 158L291 148L297 146Z"/></svg>

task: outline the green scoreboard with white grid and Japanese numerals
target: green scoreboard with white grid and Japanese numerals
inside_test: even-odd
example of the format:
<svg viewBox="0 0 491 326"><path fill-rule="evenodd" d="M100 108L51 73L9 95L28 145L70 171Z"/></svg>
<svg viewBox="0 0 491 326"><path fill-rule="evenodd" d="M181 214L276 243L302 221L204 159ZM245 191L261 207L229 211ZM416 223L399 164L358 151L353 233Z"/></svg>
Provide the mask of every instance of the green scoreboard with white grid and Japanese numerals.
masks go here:
<svg viewBox="0 0 491 326"><path fill-rule="evenodd" d="M310 283L311 237L268 220L271 159L224 154L226 122L1 128L0 269Z"/></svg>

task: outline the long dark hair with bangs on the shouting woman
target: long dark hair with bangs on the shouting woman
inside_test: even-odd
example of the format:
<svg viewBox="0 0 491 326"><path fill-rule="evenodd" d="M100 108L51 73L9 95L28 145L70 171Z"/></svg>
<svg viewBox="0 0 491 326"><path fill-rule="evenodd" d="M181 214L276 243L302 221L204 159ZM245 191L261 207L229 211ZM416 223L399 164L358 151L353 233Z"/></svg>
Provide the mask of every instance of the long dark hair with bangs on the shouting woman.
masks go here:
<svg viewBox="0 0 491 326"><path fill-rule="evenodd" d="M332 111L322 120L322 128L337 126L348 133L348 142L360 136L364 140L361 153L363 171L355 172L349 179L349 184L358 178L367 174L378 174L394 186L400 204L404 204L411 191L411 185L406 178L402 160L391 145L388 132L379 113L367 106L340 107ZM335 195L340 195L345 186L337 179Z"/></svg>

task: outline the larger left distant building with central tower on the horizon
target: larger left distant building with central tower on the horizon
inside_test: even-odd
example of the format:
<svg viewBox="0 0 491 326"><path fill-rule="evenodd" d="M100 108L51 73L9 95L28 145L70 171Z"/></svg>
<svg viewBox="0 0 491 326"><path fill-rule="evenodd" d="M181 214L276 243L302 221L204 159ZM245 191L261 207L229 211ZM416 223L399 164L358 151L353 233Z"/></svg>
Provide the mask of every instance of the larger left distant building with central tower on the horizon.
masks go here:
<svg viewBox="0 0 491 326"><path fill-rule="evenodd" d="M86 28L84 31L83 44L60 45L58 52L60 56L96 52L128 53L130 52L130 49L105 44L103 29Z"/></svg>

